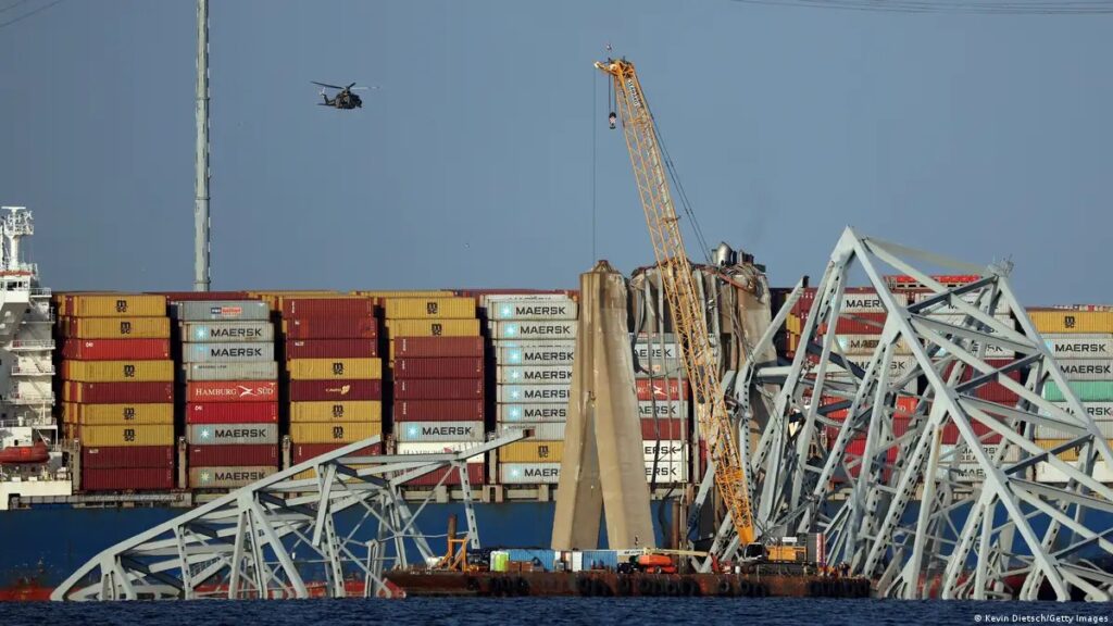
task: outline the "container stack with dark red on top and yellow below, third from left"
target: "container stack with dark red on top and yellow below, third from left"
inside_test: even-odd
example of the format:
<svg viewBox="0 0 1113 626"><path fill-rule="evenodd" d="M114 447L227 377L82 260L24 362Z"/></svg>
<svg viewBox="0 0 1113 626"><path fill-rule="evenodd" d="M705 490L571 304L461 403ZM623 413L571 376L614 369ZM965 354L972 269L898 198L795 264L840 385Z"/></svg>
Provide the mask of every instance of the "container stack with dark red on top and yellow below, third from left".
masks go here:
<svg viewBox="0 0 1113 626"><path fill-rule="evenodd" d="M383 436L383 361L374 299L279 297L289 379L290 462ZM382 444L362 450L377 454Z"/></svg>

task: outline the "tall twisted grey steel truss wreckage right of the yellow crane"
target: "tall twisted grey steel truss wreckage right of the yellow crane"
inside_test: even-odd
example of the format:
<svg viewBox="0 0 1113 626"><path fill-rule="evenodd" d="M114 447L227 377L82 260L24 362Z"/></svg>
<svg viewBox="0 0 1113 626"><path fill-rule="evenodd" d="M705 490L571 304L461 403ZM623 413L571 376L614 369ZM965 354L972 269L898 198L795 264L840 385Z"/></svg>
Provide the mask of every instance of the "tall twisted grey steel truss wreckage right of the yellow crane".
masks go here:
<svg viewBox="0 0 1113 626"><path fill-rule="evenodd" d="M981 278L948 287L913 261ZM927 294L906 304L886 267ZM844 312L851 270L886 311L869 356L846 356L827 332L853 317ZM1009 270L844 233L791 364L754 379L782 384L769 427L747 450L759 527L826 532L828 563L875 577L881 596L1110 599L1113 489L1093 475L1113 467L1113 452L1017 301ZM1043 398L1050 382L1064 402ZM1017 400L992 400L1002 387ZM749 394L738 395L745 421ZM915 408L895 420L900 397ZM945 428L957 429L957 443L943 443ZM1042 449L1036 429L1065 442ZM1037 469L1062 481L1037 483ZM731 540L726 526L717 539Z"/></svg>

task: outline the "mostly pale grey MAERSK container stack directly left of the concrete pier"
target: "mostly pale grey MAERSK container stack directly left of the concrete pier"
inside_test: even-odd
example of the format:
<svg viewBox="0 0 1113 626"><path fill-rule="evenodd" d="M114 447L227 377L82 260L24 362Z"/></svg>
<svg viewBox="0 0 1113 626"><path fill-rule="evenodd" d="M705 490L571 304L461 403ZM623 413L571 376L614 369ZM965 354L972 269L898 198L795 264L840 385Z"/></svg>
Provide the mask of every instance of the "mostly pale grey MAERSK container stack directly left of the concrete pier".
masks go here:
<svg viewBox="0 0 1113 626"><path fill-rule="evenodd" d="M502 485L560 481L571 398L578 306L568 294L486 294L482 297L495 358L496 430L533 436L500 448Z"/></svg>

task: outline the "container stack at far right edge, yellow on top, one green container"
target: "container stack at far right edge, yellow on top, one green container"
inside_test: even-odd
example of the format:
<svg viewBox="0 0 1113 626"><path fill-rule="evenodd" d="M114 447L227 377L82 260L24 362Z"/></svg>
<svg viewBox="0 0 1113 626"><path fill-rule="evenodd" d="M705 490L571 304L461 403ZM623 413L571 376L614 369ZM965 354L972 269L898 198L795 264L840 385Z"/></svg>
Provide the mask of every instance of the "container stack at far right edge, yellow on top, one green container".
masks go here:
<svg viewBox="0 0 1113 626"><path fill-rule="evenodd" d="M1028 315L1097 430L1106 439L1113 439L1113 311L1094 306L1031 309ZM1054 381L1044 383L1043 397L1070 411L1063 390ZM1051 427L1036 427L1036 443L1044 449L1058 447L1074 437ZM1067 450L1058 457L1075 463L1078 450ZM1113 468L1099 460L1093 476L1102 482L1111 482L1111 470ZM1047 463L1040 463L1036 480L1066 482L1067 477Z"/></svg>

